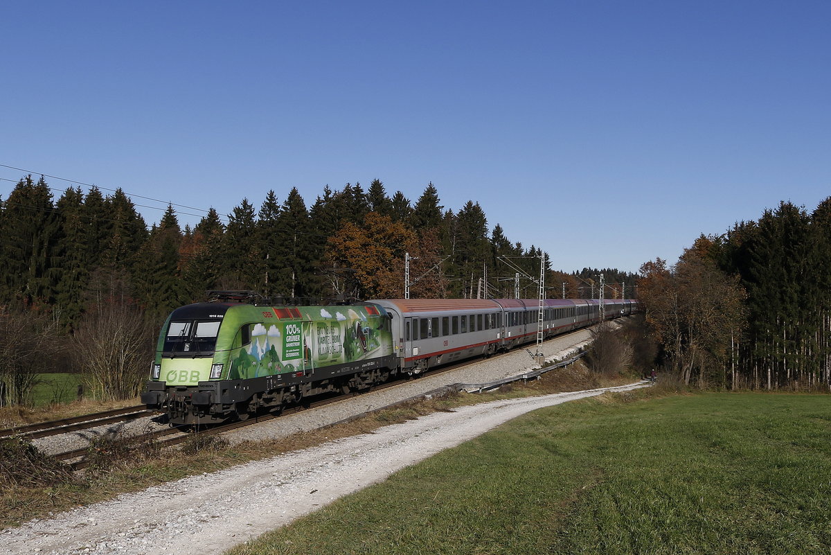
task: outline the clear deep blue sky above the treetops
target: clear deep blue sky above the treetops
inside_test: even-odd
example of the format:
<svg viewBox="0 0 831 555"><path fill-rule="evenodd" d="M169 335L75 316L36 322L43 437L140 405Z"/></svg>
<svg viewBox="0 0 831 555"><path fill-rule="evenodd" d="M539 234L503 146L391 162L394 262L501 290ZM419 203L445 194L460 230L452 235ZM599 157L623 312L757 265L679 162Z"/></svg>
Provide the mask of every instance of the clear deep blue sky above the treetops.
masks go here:
<svg viewBox="0 0 831 555"><path fill-rule="evenodd" d="M831 195L829 21L831 2L4 2L0 165L120 187L149 223L164 206L138 195L228 214L431 181L554 268L634 272ZM0 167L3 199L22 174Z"/></svg>

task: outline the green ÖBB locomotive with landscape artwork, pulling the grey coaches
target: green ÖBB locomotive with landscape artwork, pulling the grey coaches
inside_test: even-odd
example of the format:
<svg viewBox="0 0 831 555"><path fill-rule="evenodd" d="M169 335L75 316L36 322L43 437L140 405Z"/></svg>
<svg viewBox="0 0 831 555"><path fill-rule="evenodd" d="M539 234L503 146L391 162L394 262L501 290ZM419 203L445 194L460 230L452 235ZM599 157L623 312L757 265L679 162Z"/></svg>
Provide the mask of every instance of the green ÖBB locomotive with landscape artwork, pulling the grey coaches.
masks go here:
<svg viewBox="0 0 831 555"><path fill-rule="evenodd" d="M395 369L390 319L377 305L204 302L168 317L141 401L175 425L244 420L366 388Z"/></svg>

